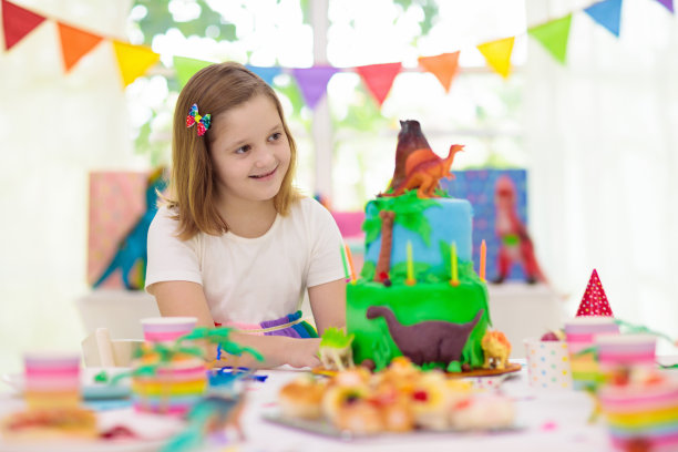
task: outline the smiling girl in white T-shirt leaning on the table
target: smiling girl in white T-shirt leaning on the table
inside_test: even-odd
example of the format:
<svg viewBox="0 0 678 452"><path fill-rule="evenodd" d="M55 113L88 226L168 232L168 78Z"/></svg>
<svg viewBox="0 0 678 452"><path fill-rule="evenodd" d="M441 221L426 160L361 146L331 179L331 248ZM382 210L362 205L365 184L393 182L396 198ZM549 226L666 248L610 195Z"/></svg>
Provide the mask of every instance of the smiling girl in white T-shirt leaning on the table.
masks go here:
<svg viewBox="0 0 678 452"><path fill-rule="evenodd" d="M170 197L148 229L146 289L161 314L234 327L266 367L319 364L299 311L307 289L320 333L346 323L341 236L292 187L296 155L266 82L230 62L201 70L176 103Z"/></svg>

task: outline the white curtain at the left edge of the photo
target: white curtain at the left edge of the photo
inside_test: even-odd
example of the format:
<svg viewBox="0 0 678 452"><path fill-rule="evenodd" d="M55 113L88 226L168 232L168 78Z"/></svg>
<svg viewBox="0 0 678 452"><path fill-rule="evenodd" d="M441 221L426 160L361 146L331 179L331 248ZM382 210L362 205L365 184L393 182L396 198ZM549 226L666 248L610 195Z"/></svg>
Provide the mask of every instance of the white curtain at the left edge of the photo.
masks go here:
<svg viewBox="0 0 678 452"><path fill-rule="evenodd" d="M124 40L130 1L17 1L44 21L0 53L0 371L28 350L80 351L88 174L137 170L110 41L65 74L53 19ZM0 40L2 38L0 37Z"/></svg>

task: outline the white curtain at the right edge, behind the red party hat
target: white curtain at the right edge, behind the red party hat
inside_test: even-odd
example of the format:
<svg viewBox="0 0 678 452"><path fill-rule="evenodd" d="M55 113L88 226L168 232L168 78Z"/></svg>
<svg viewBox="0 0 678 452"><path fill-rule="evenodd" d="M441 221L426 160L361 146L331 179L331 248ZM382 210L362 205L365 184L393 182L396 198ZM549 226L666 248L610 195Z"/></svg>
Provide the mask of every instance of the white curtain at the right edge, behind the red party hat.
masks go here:
<svg viewBox="0 0 678 452"><path fill-rule="evenodd" d="M571 316L596 268L617 318L678 338L678 20L625 0L616 39L592 3L526 4L528 27L576 11L565 65L530 39L532 233Z"/></svg>

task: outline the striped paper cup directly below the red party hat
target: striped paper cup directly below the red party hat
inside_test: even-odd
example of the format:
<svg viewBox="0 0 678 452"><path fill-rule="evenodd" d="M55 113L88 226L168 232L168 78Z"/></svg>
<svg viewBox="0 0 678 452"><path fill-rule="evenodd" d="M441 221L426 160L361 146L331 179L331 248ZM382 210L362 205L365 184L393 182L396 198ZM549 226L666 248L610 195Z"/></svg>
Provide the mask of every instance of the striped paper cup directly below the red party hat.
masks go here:
<svg viewBox="0 0 678 452"><path fill-rule="evenodd" d="M612 317L576 317L565 321L565 337L575 389L595 387L600 382L600 370L595 353L579 355L579 352L595 347L596 335L618 332L619 327Z"/></svg>

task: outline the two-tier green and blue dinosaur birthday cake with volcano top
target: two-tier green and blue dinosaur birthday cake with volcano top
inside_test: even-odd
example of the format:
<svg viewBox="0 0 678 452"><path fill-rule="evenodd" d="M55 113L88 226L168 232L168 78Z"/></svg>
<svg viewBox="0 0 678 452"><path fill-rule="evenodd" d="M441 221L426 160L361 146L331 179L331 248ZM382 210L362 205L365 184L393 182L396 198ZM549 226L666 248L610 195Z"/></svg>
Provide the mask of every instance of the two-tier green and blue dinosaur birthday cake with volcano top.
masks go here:
<svg viewBox="0 0 678 452"><path fill-rule="evenodd" d="M393 178L366 206L364 264L347 287L358 364L381 370L400 356L451 372L507 364L511 345L487 331L487 288L473 269L473 209L439 188L462 147L439 157L417 121L401 121Z"/></svg>

